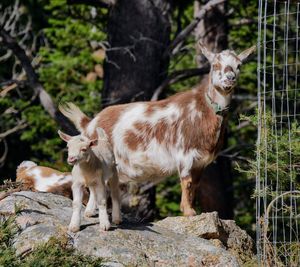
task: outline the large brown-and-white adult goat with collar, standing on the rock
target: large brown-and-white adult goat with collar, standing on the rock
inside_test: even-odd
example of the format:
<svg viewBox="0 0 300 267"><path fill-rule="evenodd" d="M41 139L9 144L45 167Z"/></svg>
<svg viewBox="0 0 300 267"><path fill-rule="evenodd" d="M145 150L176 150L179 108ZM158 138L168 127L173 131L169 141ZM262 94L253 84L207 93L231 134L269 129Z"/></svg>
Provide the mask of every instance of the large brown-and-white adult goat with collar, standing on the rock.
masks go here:
<svg viewBox="0 0 300 267"><path fill-rule="evenodd" d="M92 120L72 103L60 107L81 133L95 137L97 127L106 131L120 181L156 182L177 171L182 188L180 206L186 216L196 214L193 174L202 171L219 152L240 66L255 49L237 55L229 50L212 53L199 45L211 70L190 91L155 102L110 106Z"/></svg>

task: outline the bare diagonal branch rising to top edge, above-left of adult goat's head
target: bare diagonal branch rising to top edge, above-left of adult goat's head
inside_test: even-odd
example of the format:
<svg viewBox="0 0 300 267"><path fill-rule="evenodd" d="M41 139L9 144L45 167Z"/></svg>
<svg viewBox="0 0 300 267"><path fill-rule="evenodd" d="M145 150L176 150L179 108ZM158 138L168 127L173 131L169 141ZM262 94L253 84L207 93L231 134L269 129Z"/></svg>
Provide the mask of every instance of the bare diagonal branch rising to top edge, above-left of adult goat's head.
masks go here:
<svg viewBox="0 0 300 267"><path fill-rule="evenodd" d="M198 23L204 18L205 14L213 9L215 6L224 3L226 0L211 0L207 4L205 4L197 16L195 16L194 20L185 28L183 29L177 37L172 41L169 48L166 50L164 57L169 56L170 54L174 54L174 50L176 47L183 42L187 36L196 28Z"/></svg>

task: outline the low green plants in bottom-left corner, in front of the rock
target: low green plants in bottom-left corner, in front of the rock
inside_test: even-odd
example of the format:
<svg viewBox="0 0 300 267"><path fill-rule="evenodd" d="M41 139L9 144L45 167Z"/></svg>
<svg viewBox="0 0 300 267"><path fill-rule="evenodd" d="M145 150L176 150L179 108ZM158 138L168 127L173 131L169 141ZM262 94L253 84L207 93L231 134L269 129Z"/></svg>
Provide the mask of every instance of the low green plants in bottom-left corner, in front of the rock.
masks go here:
<svg viewBox="0 0 300 267"><path fill-rule="evenodd" d="M19 257L12 246L13 237L17 232L15 216L10 216L0 222L0 267L102 266L100 258L75 254L66 237L51 238L25 257Z"/></svg>

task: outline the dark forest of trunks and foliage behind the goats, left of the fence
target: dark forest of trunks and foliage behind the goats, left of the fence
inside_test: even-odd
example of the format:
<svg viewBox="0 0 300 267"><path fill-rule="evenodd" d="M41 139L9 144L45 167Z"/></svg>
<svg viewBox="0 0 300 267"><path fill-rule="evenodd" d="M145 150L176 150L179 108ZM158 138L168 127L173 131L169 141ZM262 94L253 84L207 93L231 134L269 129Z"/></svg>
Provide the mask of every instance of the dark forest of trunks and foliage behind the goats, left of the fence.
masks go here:
<svg viewBox="0 0 300 267"><path fill-rule="evenodd" d="M75 130L57 111L60 102L92 117L109 105L189 90L209 70L196 42L215 52L255 45L257 8L252 0L1 1L0 183L14 180L23 160L70 170L57 130ZM226 142L196 199L198 211L217 210L248 232L255 173L240 170L255 156L256 127L241 115L255 113L256 80L254 56L242 67ZM140 220L180 214L177 176L123 192L124 210Z"/></svg>

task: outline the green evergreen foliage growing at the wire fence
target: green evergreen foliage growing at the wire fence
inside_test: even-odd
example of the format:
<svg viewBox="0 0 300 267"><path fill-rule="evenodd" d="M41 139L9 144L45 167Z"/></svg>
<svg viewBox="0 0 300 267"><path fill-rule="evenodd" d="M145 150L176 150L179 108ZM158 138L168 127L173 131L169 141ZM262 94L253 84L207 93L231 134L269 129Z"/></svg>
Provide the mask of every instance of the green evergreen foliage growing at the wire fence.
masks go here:
<svg viewBox="0 0 300 267"><path fill-rule="evenodd" d="M294 121L290 129L288 127L277 129L276 118L267 111L262 116L259 126L257 116L245 117L256 127L261 128L260 140L256 144L259 160L253 157L245 172L251 177L258 174L261 182L268 181L267 193L270 196L273 196L274 191L279 188L282 191L289 191L291 182L296 186L294 190L299 190L300 183L297 180L300 173L299 124Z"/></svg>

